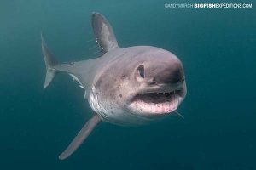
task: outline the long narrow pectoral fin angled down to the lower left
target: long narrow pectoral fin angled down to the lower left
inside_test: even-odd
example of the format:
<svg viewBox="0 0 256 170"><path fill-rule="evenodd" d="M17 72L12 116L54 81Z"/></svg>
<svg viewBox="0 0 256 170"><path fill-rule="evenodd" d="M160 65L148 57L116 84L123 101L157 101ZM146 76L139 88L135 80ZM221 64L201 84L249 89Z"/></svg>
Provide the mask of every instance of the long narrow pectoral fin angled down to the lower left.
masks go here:
<svg viewBox="0 0 256 170"><path fill-rule="evenodd" d="M73 139L71 144L67 146L67 149L64 150L59 156L60 160L66 159L68 156L71 156L75 150L83 144L84 140L89 136L91 131L96 127L96 125L101 122L101 118L98 115L94 115L90 118L88 122L85 123L84 127L80 130L78 135Z"/></svg>

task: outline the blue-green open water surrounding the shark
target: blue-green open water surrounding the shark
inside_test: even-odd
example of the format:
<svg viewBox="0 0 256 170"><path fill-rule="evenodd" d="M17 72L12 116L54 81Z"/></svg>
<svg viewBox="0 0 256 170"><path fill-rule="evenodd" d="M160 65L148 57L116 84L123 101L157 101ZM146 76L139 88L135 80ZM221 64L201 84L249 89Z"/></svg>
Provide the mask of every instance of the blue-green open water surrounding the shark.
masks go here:
<svg viewBox="0 0 256 170"><path fill-rule="evenodd" d="M202 2L210 1L2 0L0 169L256 169L256 7L165 8ZM91 109L65 74L43 89L40 32L61 61L95 58L95 11L120 47L156 46L183 61L185 118L143 127L103 122L60 161Z"/></svg>

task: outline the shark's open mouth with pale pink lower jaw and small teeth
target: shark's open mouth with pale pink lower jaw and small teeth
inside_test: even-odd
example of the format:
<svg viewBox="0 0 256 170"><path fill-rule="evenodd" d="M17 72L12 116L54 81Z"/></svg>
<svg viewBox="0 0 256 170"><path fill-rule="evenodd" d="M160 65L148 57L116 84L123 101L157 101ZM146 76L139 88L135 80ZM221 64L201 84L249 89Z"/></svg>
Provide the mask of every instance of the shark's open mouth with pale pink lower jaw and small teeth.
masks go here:
<svg viewBox="0 0 256 170"><path fill-rule="evenodd" d="M131 102L133 111L146 115L165 115L177 110L183 100L183 90L137 94Z"/></svg>

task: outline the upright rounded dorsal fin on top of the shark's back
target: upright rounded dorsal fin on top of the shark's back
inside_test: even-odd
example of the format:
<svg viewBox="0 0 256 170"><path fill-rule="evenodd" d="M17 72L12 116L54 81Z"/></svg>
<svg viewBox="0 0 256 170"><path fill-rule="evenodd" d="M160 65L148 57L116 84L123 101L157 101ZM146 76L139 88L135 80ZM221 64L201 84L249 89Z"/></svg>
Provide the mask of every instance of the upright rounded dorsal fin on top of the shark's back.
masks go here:
<svg viewBox="0 0 256 170"><path fill-rule="evenodd" d="M102 54L107 53L113 48L119 47L114 36L112 26L102 14L93 13L91 22L96 42L99 44Z"/></svg>

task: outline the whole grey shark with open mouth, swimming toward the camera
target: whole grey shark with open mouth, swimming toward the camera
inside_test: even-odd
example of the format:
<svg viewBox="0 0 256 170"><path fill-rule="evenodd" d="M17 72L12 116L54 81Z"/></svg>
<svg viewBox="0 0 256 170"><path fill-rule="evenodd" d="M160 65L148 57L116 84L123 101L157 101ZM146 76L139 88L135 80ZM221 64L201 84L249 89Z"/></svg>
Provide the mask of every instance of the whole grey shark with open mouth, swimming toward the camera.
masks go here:
<svg viewBox="0 0 256 170"><path fill-rule="evenodd" d="M150 46L120 48L102 14L92 14L102 56L60 64L42 37L46 65L44 88L57 72L66 72L84 88L93 116L59 158L66 159L99 122L139 126L175 115L187 93L182 62L169 51Z"/></svg>

